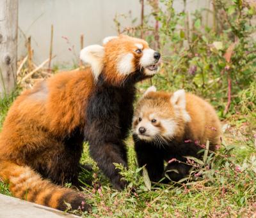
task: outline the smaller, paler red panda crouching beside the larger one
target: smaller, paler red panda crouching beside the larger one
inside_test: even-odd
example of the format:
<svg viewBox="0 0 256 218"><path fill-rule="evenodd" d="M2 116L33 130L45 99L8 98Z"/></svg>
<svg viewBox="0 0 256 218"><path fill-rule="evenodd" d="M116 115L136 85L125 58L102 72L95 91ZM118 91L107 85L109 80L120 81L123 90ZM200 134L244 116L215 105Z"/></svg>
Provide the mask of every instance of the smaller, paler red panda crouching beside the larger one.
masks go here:
<svg viewBox="0 0 256 218"><path fill-rule="evenodd" d="M138 164L146 165L153 182L163 178L164 172L179 181L191 168L184 164L184 156L200 159L199 144L209 140L210 150L220 144L221 124L212 106L183 89L170 94L149 87L138 102L132 128ZM171 159L177 161L164 169L164 161Z"/></svg>

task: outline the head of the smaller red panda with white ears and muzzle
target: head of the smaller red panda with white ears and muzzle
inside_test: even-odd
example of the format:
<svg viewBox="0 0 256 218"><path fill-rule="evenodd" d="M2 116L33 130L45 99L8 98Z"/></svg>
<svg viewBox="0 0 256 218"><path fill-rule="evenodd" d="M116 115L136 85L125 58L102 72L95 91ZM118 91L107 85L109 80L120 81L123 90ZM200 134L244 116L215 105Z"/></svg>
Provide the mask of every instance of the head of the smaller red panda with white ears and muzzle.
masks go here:
<svg viewBox="0 0 256 218"><path fill-rule="evenodd" d="M186 122L190 120L183 89L169 94L156 92L156 87L152 86L138 102L132 130L140 140L161 143L182 137Z"/></svg>

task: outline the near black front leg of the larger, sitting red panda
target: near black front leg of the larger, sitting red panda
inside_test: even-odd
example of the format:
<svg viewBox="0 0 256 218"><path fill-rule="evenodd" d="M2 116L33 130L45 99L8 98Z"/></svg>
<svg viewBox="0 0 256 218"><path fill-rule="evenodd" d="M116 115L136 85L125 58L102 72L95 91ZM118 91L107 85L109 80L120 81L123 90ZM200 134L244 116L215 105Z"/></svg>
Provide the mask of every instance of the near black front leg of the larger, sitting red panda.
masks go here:
<svg viewBox="0 0 256 218"><path fill-rule="evenodd" d="M112 89L97 91L88 103L84 136L90 145L90 154L100 170L118 190L124 189L119 170L113 163L127 167L127 149L122 141L120 105Z"/></svg>

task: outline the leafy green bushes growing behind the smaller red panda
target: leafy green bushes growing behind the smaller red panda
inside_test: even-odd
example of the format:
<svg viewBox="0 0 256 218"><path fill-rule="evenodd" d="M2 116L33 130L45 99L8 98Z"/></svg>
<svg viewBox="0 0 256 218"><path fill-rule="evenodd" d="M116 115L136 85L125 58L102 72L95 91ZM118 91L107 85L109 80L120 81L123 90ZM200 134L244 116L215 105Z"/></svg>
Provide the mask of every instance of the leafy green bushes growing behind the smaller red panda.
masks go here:
<svg viewBox="0 0 256 218"><path fill-rule="evenodd" d="M256 79L255 5L216 0L212 11L196 10L189 21L186 0L182 12L174 10L173 0L147 3L152 13L144 17L143 25L132 23L122 29L118 18L115 22L119 33L143 36L160 50L163 64L152 83L160 89L185 88L209 98L221 117L240 110L237 92ZM207 24L210 16L211 25Z"/></svg>

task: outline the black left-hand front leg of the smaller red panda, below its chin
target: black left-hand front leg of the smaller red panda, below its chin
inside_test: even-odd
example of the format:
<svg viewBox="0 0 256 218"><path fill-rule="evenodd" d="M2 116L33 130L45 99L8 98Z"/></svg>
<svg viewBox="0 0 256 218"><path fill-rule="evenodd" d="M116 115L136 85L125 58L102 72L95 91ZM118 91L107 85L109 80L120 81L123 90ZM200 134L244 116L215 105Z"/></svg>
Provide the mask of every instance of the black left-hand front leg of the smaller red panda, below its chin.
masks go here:
<svg viewBox="0 0 256 218"><path fill-rule="evenodd" d="M146 165L150 180L159 182L164 173L164 159L161 149L152 143L138 140L136 136L133 138L139 167Z"/></svg>

